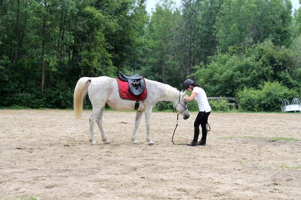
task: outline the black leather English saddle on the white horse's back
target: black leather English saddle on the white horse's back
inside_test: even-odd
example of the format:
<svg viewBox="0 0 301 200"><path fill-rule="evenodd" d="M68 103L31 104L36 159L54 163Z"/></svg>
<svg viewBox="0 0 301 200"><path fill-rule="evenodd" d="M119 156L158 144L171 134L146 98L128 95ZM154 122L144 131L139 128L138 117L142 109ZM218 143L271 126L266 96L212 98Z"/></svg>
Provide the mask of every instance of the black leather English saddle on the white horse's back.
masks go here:
<svg viewBox="0 0 301 200"><path fill-rule="evenodd" d="M145 89L144 79L139 74L126 76L121 71L119 71L118 78L120 80L127 81L130 91L136 96L140 95Z"/></svg>

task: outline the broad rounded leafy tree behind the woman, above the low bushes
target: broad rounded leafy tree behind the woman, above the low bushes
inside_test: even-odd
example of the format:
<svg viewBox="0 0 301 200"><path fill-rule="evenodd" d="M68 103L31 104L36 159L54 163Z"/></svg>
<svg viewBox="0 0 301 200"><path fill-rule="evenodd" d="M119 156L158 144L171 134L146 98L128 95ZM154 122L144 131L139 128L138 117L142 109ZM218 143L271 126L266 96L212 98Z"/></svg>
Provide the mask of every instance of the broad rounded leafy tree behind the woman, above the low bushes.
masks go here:
<svg viewBox="0 0 301 200"><path fill-rule="evenodd" d="M298 90L300 71L294 53L271 41L254 44L245 54L218 54L210 57L208 65L195 66L192 76L209 95L234 96L244 86L258 88L266 81L279 81Z"/></svg>

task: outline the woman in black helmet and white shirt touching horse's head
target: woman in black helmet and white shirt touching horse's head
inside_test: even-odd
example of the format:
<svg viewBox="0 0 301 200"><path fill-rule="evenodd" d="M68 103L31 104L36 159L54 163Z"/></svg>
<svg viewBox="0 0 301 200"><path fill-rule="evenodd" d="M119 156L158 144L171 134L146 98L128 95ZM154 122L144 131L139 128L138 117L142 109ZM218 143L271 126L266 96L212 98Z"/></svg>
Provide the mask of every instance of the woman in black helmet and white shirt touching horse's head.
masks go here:
<svg viewBox="0 0 301 200"><path fill-rule="evenodd" d="M198 101L199 105L199 113L197 118L194 122L194 137L192 142L187 143L189 146L196 146L196 145L206 145L206 137L207 137L207 128L206 124L208 121L208 116L211 112L211 107L208 103L207 95L200 87L200 85L194 82L192 79L187 79L183 83L184 89L188 89L191 91L191 95L189 97L185 97L185 100L192 101L194 98ZM202 139L198 142L199 134L200 134L200 125L202 127Z"/></svg>

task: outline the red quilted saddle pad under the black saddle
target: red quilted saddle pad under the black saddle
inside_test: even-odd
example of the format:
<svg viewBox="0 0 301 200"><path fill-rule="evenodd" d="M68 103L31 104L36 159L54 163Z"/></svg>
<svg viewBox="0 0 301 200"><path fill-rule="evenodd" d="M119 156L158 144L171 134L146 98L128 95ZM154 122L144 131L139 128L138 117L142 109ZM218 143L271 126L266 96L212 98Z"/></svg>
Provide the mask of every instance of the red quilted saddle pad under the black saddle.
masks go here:
<svg viewBox="0 0 301 200"><path fill-rule="evenodd" d="M118 83L120 97L123 99L128 99L128 100L144 100L147 96L147 91L146 91L145 80L144 80L144 78L142 78L142 79L143 79L144 85L145 85L144 91L140 95L136 96L136 95L132 94L132 92L130 91L129 86L128 86L128 81L122 81L119 78L116 78L117 83Z"/></svg>

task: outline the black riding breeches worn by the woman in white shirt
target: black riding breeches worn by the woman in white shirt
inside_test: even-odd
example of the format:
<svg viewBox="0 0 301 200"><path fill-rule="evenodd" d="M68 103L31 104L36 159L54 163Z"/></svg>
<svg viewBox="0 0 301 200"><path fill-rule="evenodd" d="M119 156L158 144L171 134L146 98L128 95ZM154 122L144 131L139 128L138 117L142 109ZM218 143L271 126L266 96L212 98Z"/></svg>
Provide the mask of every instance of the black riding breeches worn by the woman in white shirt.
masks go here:
<svg viewBox="0 0 301 200"><path fill-rule="evenodd" d="M199 111L197 118L194 122L194 140L198 140L199 134L200 134L200 125L202 127L202 140L206 142L207 137L207 122L208 122L208 116L210 114L209 112L205 111Z"/></svg>

